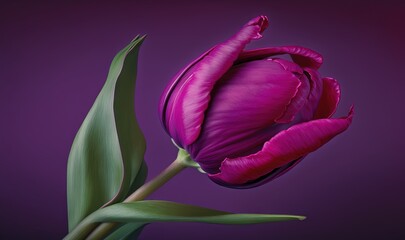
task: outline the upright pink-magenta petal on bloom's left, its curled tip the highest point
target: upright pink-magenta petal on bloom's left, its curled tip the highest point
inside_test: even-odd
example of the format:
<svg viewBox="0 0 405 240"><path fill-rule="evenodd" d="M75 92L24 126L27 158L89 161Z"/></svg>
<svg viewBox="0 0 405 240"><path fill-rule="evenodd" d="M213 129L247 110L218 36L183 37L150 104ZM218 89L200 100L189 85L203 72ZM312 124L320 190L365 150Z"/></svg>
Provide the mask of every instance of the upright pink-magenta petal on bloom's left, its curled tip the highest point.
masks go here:
<svg viewBox="0 0 405 240"><path fill-rule="evenodd" d="M169 133L178 144L184 147L198 137L214 84L233 65L245 45L261 37L267 25L264 16L251 20L235 36L197 62L192 74L177 86L177 94L170 96L173 109L166 116L169 117Z"/></svg>

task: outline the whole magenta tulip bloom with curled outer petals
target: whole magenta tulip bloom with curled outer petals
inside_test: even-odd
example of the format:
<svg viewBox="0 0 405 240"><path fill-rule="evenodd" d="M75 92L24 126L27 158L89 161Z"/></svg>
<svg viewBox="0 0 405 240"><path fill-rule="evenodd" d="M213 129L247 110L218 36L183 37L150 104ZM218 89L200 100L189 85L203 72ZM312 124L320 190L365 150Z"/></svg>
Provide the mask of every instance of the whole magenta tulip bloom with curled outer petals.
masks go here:
<svg viewBox="0 0 405 240"><path fill-rule="evenodd" d="M162 124L214 182L261 185L345 131L353 117L330 118L340 98L321 78L322 56L287 46L244 50L261 38L265 16L248 22L180 71L164 91ZM280 58L289 55L290 60Z"/></svg>

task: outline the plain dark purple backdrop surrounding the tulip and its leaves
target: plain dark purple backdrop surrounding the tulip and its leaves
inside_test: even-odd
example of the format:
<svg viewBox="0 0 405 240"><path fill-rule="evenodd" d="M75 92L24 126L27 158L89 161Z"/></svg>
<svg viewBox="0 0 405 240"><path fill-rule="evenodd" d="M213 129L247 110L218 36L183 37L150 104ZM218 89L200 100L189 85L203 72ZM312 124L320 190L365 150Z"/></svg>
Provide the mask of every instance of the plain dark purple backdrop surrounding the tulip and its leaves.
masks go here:
<svg viewBox="0 0 405 240"><path fill-rule="evenodd" d="M404 237L405 4L155 1L0 7L0 238L60 239L67 232L66 162L110 61L147 33L137 113L149 177L176 155L157 116L159 96L189 61L246 21L268 15L249 48L297 44L322 53L323 76L342 85L337 116L350 129L290 173L251 190L215 185L189 169L150 198L234 212L302 214L302 222L250 226L156 223L141 239L400 239Z"/></svg>

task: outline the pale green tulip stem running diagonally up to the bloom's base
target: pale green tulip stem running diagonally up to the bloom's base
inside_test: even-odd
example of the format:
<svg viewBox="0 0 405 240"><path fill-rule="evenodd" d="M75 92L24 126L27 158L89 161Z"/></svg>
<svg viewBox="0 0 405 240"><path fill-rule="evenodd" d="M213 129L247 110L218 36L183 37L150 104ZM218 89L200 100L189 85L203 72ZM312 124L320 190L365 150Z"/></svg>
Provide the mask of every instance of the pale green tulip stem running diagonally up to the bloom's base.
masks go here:
<svg viewBox="0 0 405 240"><path fill-rule="evenodd" d="M123 202L140 201L148 197L154 191L162 187L172 177L176 176L183 169L191 166L195 166L191 160L189 154L180 149L177 154L176 160L174 160L163 172L156 176L151 181L142 185L135 192L133 192ZM64 239L103 239L107 237L117 226L118 223L101 223L98 227L98 223L89 223L84 219L72 232L70 232ZM93 231L94 230L94 231Z"/></svg>

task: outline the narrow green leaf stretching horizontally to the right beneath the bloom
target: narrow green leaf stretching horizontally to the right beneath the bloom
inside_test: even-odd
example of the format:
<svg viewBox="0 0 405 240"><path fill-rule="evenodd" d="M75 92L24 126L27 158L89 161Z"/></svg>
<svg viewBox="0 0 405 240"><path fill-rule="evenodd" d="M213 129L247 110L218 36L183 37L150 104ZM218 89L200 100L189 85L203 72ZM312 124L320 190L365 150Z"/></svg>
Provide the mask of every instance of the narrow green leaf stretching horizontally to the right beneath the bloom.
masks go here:
<svg viewBox="0 0 405 240"><path fill-rule="evenodd" d="M290 220L304 220L303 216L277 214L234 214L168 201L138 201L117 203L102 208L84 222L121 222L125 224L107 239L128 239L127 234L152 222L201 222L214 224L257 224ZM114 235L116 234L116 235ZM122 237L122 238L120 238Z"/></svg>

